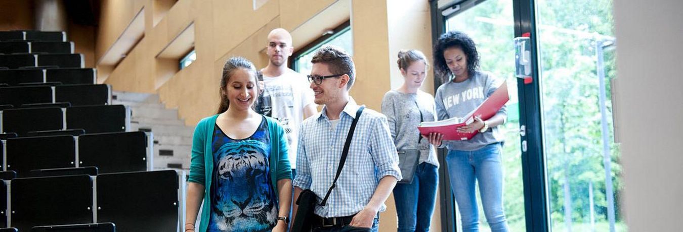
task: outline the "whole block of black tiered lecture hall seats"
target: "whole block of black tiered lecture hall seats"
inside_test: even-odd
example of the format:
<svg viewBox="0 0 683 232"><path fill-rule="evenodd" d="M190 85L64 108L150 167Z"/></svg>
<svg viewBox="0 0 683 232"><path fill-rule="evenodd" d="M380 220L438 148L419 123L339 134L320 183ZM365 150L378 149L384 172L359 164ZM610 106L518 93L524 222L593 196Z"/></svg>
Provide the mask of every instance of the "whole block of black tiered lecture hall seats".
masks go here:
<svg viewBox="0 0 683 232"><path fill-rule="evenodd" d="M0 232L181 231L185 174L152 170L66 33L0 31Z"/></svg>

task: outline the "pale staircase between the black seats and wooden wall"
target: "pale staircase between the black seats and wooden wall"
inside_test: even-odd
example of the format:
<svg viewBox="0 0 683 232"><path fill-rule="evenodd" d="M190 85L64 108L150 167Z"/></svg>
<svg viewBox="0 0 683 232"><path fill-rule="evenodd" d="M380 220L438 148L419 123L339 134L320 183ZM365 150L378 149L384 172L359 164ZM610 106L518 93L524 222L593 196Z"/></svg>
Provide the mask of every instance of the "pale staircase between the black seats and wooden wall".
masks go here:
<svg viewBox="0 0 683 232"><path fill-rule="evenodd" d="M113 91L111 103L130 108L131 131L154 133L154 169L189 170L194 127L178 119L178 110L166 109L150 93Z"/></svg>

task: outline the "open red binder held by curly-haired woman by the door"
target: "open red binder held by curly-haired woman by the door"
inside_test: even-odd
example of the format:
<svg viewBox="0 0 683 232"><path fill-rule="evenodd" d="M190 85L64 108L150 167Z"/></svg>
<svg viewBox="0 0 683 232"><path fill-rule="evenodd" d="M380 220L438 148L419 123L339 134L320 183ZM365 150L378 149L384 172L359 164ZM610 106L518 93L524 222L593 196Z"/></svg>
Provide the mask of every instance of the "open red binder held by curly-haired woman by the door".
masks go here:
<svg viewBox="0 0 683 232"><path fill-rule="evenodd" d="M473 133L460 133L456 129L474 122L475 117L482 118L482 120L488 120L501 110L501 107L503 107L507 101L510 101L510 95L507 93L507 81L504 81L492 95L479 105L479 107L460 118L460 120L458 120L459 118L449 118L435 122L421 122L417 129L419 129L420 133L423 135L429 135L429 133L432 132L442 133L443 140L471 139L478 131Z"/></svg>

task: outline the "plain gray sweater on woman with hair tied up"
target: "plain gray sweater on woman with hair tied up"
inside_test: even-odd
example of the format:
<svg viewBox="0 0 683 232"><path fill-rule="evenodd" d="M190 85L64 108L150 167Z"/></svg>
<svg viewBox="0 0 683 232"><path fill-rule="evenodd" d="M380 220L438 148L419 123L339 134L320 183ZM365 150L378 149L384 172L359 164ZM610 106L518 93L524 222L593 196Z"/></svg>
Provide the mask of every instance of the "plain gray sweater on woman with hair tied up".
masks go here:
<svg viewBox="0 0 683 232"><path fill-rule="evenodd" d="M429 139L419 139L420 112L425 122L436 120L434 98L421 90L413 94L389 90L382 99L382 114L387 116L396 149L420 149L419 163L438 167L434 146L430 145Z"/></svg>

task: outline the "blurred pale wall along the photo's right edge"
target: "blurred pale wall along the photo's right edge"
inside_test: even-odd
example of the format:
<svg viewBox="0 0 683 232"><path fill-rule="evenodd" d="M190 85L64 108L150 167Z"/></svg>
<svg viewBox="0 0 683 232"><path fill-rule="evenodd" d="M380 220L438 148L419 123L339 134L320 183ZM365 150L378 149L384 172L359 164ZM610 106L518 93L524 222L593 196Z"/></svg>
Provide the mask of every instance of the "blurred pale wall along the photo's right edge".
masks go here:
<svg viewBox="0 0 683 232"><path fill-rule="evenodd" d="M629 231L681 231L683 1L614 1L616 115Z"/></svg>

